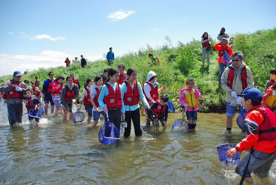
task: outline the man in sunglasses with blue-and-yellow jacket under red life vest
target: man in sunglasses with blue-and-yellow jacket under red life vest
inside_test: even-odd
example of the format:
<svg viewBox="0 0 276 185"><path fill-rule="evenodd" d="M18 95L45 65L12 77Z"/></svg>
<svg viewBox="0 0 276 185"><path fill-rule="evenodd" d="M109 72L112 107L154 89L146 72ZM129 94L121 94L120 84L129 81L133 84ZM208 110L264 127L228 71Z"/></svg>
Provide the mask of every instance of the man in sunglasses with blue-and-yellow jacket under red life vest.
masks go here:
<svg viewBox="0 0 276 185"><path fill-rule="evenodd" d="M42 88L42 98L44 99L45 102L45 108L46 108L46 112L45 114L48 114L48 106L49 106L49 101L51 103L51 112L54 112L55 109L55 103L52 100L52 83L55 80L54 78L54 73L52 71L50 71L48 73L48 78L44 81L43 83L43 88Z"/></svg>

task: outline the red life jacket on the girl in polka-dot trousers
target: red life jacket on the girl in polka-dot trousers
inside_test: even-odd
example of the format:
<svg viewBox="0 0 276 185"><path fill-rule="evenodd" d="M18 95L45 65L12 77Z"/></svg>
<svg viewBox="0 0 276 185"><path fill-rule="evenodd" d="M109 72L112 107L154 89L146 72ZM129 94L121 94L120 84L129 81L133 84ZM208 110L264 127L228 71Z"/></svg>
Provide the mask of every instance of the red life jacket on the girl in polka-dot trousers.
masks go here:
<svg viewBox="0 0 276 185"><path fill-rule="evenodd" d="M105 84L108 88L108 95L104 96L104 103L107 109L122 108L121 90L119 84L116 83L116 93L109 84Z"/></svg>

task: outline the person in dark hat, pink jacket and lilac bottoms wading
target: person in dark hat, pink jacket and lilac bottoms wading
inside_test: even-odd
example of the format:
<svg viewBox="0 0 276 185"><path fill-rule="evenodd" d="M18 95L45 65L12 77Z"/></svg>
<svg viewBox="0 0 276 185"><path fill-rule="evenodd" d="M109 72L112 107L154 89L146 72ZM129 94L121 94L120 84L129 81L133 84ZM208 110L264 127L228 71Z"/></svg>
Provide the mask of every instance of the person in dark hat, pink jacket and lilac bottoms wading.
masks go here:
<svg viewBox="0 0 276 185"><path fill-rule="evenodd" d="M61 90L63 88L62 81L65 78L61 75L59 75L53 82L52 82L52 100L56 106L56 111L54 115L60 115L63 116L63 109L62 105L60 104L60 94Z"/></svg>

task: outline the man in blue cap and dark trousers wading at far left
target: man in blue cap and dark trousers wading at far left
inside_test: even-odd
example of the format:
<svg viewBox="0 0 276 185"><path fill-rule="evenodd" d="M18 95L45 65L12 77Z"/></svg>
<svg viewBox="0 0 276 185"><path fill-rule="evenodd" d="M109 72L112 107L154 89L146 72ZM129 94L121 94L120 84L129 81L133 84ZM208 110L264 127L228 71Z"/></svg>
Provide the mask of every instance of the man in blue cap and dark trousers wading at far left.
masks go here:
<svg viewBox="0 0 276 185"><path fill-rule="evenodd" d="M15 71L13 79L7 80L0 86L0 92L7 93L7 113L11 126L15 123L22 123L23 100L21 99L21 94L26 95L28 85L21 82L21 76L20 71Z"/></svg>

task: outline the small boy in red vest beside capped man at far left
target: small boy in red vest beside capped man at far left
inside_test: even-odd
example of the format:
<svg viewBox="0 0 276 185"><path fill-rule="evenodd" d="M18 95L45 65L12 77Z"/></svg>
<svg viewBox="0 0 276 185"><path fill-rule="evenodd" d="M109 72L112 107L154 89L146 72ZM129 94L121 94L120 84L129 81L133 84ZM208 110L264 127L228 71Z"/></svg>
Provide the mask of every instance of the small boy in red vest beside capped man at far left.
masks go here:
<svg viewBox="0 0 276 185"><path fill-rule="evenodd" d="M23 96L23 94L21 94L21 98L22 100L26 100L26 108L28 111L28 115L29 115L29 110L31 109L38 111L38 107L40 106L41 103L39 99L36 98L36 96L33 96L32 89L30 88L26 89L26 96ZM29 121L32 121L33 119L35 119L36 122L39 122L38 118L34 118L29 115Z"/></svg>

